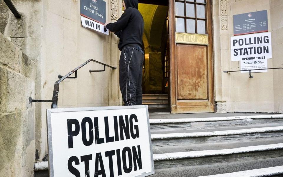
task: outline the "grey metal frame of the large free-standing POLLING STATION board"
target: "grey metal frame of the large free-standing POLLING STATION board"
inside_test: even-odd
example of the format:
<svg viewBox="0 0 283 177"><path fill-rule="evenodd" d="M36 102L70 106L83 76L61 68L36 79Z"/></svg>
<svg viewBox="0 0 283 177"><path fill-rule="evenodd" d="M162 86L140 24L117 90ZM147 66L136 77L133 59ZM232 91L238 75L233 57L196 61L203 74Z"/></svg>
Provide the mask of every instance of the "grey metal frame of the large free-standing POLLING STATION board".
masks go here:
<svg viewBox="0 0 283 177"><path fill-rule="evenodd" d="M48 148L48 171L49 176L54 177L53 171L53 151L52 151L52 127L51 127L51 113L54 112L79 112L79 111L97 111L97 110L115 110L115 109L140 109L145 108L147 113L147 125L148 125L148 133L149 133L149 145L150 145L150 153L151 153L151 162L152 162L152 171L149 173L144 173L136 177L145 177L155 173L154 171L154 160L153 160L153 152L152 152L152 142L151 142L151 133L150 133L150 125L149 125L149 113L147 105L137 105L137 106L103 106L103 107L80 107L80 108L56 108L56 109L46 109L46 118L47 118L47 148Z"/></svg>

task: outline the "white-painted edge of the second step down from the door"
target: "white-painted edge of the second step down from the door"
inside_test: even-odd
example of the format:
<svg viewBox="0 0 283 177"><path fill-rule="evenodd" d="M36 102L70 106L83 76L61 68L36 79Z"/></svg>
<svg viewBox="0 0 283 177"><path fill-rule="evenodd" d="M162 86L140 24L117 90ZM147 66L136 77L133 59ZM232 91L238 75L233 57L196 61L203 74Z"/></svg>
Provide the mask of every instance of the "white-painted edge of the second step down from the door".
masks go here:
<svg viewBox="0 0 283 177"><path fill-rule="evenodd" d="M283 126L249 128L249 129L241 129L241 130L222 130L222 131L214 131L214 132L152 134L151 139L161 140L161 139L174 139L174 138L210 137L210 136L240 135L240 134L266 133L266 132L279 132L279 131L283 131Z"/></svg>

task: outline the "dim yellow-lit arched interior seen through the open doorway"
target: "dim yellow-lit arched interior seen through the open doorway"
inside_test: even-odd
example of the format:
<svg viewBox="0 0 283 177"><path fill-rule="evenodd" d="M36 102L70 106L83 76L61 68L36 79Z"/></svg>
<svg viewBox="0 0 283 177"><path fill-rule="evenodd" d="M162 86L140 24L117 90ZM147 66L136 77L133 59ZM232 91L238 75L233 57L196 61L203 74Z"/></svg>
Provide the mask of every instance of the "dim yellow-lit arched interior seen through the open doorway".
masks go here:
<svg viewBox="0 0 283 177"><path fill-rule="evenodd" d="M139 11L144 18L143 94L168 94L168 6L139 4Z"/></svg>

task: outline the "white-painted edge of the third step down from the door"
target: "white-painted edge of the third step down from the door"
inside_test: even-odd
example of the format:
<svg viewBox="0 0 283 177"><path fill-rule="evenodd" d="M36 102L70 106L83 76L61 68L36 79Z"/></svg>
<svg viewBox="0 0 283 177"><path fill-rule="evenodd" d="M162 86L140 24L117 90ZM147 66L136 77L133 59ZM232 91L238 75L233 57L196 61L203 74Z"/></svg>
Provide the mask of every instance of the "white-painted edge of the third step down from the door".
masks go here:
<svg viewBox="0 0 283 177"><path fill-rule="evenodd" d="M201 151L190 151L190 152L154 154L153 160L154 161L179 160L179 159L187 159L187 158L201 158L208 156L231 155L231 154L258 152L258 151L279 150L279 149L283 149L283 143L271 144L271 145L248 146L248 147L233 148L233 149L201 150Z"/></svg>

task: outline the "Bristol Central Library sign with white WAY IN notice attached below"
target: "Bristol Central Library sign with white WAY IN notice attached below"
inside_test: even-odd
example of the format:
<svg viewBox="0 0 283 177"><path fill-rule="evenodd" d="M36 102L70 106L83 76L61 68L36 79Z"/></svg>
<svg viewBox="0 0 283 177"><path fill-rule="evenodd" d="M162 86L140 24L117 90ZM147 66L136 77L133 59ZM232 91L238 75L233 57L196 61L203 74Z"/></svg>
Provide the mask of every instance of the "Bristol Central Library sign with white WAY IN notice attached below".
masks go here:
<svg viewBox="0 0 283 177"><path fill-rule="evenodd" d="M104 28L106 22L106 2L103 0L80 0L80 16L82 25L103 34L109 32Z"/></svg>

